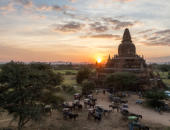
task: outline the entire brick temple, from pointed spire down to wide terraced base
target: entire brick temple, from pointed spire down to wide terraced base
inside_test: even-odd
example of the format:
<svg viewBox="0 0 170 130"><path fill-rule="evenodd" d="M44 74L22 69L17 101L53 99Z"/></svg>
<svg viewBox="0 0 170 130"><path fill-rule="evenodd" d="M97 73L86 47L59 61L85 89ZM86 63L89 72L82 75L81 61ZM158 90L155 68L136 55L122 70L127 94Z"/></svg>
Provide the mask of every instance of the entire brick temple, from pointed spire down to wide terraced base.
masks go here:
<svg viewBox="0 0 170 130"><path fill-rule="evenodd" d="M149 88L164 86L160 76L155 75L152 67L146 64L143 56L136 53L136 47L127 28L118 47L118 54L112 58L109 55L105 66L100 66L100 64L97 66L96 84L99 87L105 87L106 76L115 72L134 73L140 79L138 86L149 86Z"/></svg>

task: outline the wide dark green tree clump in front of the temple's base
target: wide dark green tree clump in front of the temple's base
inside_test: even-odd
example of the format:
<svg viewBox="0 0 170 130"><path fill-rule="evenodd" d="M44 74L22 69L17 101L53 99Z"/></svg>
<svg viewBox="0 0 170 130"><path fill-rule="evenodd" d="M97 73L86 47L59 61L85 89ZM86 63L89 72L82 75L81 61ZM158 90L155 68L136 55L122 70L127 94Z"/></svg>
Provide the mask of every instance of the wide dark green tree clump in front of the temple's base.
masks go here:
<svg viewBox="0 0 170 130"><path fill-rule="evenodd" d="M114 90L136 90L138 78L133 73L117 72L106 77L105 84Z"/></svg>

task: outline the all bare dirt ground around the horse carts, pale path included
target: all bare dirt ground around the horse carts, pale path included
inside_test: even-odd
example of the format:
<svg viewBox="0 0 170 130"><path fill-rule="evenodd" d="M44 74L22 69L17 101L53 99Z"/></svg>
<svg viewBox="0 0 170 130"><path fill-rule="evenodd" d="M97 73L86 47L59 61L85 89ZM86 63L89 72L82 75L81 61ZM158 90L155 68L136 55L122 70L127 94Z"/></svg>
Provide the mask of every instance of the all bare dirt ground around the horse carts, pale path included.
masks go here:
<svg viewBox="0 0 170 130"><path fill-rule="evenodd" d="M95 95L95 94L94 94ZM111 102L108 99L108 94L95 95L97 104L108 108ZM170 113L160 115L154 110L150 110L135 104L138 97L131 95L128 99L129 111L143 115L141 122L150 126L151 130L168 130L170 126ZM110 115L103 117L102 121L87 120L87 109L83 109L79 113L79 117L74 120L63 120L62 114L53 111L52 116L46 117L44 121L38 123L29 123L24 130L128 130L128 121L122 119L119 112L112 112ZM7 114L0 115L0 128L10 127L16 129L16 122L10 124L11 117Z"/></svg>

